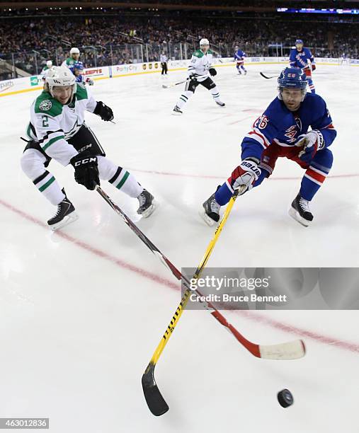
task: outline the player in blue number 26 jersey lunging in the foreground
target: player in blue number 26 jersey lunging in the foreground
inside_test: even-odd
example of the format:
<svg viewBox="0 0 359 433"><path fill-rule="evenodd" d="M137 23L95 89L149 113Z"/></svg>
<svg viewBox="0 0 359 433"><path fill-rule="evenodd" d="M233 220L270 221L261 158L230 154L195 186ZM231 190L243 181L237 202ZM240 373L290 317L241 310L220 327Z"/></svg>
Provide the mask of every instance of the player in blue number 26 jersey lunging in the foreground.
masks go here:
<svg viewBox="0 0 359 433"><path fill-rule="evenodd" d="M305 170L300 191L290 207L290 216L303 226L310 224L313 215L309 202L333 164L329 146L336 138L336 130L324 99L307 93L306 88L307 78L301 69L282 71L277 98L241 142L241 163L203 203L202 216L208 225L220 220L220 207L229 202L234 190L244 185L246 192L261 185L273 173L277 159L283 157Z"/></svg>

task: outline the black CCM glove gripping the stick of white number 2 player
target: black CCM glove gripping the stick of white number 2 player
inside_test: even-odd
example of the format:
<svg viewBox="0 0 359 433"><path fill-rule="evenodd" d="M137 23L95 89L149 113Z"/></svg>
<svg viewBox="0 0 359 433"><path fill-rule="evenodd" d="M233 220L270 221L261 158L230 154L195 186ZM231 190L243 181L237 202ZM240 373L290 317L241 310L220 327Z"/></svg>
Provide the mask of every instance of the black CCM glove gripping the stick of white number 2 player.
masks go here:
<svg viewBox="0 0 359 433"><path fill-rule="evenodd" d="M77 183L84 185L88 190L94 190L96 185L100 185L96 156L84 151L71 158L70 163L74 166Z"/></svg>

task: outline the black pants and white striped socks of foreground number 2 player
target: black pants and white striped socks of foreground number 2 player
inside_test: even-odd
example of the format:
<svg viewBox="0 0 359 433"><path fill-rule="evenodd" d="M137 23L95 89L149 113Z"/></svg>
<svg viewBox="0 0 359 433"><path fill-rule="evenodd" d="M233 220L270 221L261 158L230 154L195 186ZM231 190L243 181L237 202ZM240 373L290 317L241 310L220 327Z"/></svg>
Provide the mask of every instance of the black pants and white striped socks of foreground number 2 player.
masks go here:
<svg viewBox="0 0 359 433"><path fill-rule="evenodd" d="M130 197L137 197L141 194L143 187L128 171L106 158L101 144L87 125L83 124L74 137L68 139L67 142L72 144L78 152L89 150L91 156L97 156L100 179L108 180L118 190L125 192ZM64 192L55 177L47 171L50 161L51 158L42 150L40 144L30 141L23 151L21 168L42 195L49 202L57 205L64 200Z"/></svg>

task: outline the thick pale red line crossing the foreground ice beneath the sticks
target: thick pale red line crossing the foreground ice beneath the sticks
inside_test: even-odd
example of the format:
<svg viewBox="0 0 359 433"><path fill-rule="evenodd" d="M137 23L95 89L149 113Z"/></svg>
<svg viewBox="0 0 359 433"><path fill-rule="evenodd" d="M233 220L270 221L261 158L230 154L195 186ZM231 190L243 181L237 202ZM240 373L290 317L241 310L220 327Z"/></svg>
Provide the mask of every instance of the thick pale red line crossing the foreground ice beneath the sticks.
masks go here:
<svg viewBox="0 0 359 433"><path fill-rule="evenodd" d="M20 217L23 217L24 219L27 219L28 221L32 222L33 224L36 224L37 226L42 227L42 229L49 230L47 224L43 223L42 221L33 217L32 215L23 212L21 209L17 209L12 204L8 204L7 202L4 202L4 200L0 200L0 204L2 204L2 206L6 207L6 209L10 210L11 212L18 214ZM122 269L130 270L131 272L134 272L135 274L140 275L141 277L147 278L151 281L162 284L162 285L169 287L171 289L174 289L174 290L180 289L179 283L176 284L176 283L170 281L169 279L159 277L158 275L156 275L152 272L144 270L144 269L137 267L135 265L131 265L130 263L125 262L124 260L120 260L119 258L116 258L113 255L105 253L104 251L89 245L89 243L86 243L84 241L80 241L79 239L76 239L73 236L70 236L67 233L64 233L63 231L59 231L59 230L54 231L54 235L59 236L60 238L63 238L66 241L69 241L70 243L78 246L79 248L86 250L88 253L92 253L93 255L96 255L99 258L103 258L105 260L108 260L109 262L112 262L113 264L117 265L118 267L122 267ZM321 343L326 344L326 345L332 345L332 346L341 348L343 350L348 350L349 352L355 352L355 353L359 354L359 345L358 344L339 340L338 338L329 337L327 335L321 335L319 333L314 333L310 330L297 328L297 326L287 325L285 323L275 321L272 318L266 318L264 316L259 316L258 314L255 314L251 311L236 311L236 313L238 313L239 315L244 316L246 318L249 318L249 320L251 320L251 321L255 321L257 323L262 323L264 325L268 325L268 326L270 326L270 328L279 329L279 330L285 331L286 333L295 333L297 335L301 335L302 337L308 337L308 338L311 338L312 340L315 340L317 342L321 342Z"/></svg>

